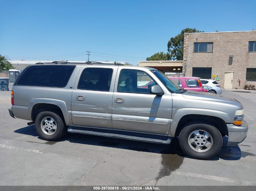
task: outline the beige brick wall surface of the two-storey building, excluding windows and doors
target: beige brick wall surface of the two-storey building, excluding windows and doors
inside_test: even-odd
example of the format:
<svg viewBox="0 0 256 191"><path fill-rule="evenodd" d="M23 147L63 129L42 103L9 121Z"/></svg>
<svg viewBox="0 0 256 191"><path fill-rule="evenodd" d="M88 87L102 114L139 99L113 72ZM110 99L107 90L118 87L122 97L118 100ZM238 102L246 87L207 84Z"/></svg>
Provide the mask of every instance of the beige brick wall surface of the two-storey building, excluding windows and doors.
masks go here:
<svg viewBox="0 0 256 191"><path fill-rule="evenodd" d="M245 81L246 68L256 68L256 52L248 52L249 41L256 41L256 31L185 33L183 64L187 64L186 75L192 76L193 67L211 67L211 76L218 73L218 83L222 88L225 72L228 71L234 72L233 88L243 89L245 83L256 85L256 81ZM213 42L213 52L193 53L195 42ZM234 55L231 65L230 55Z"/></svg>

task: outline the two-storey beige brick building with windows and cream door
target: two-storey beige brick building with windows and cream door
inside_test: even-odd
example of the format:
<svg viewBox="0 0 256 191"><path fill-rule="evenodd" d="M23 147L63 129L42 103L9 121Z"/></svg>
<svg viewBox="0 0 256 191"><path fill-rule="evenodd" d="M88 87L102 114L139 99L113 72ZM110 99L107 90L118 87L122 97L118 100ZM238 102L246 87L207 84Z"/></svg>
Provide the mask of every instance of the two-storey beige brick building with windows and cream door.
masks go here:
<svg viewBox="0 0 256 191"><path fill-rule="evenodd" d="M185 33L184 66L186 76L217 79L222 88L256 85L256 30Z"/></svg>

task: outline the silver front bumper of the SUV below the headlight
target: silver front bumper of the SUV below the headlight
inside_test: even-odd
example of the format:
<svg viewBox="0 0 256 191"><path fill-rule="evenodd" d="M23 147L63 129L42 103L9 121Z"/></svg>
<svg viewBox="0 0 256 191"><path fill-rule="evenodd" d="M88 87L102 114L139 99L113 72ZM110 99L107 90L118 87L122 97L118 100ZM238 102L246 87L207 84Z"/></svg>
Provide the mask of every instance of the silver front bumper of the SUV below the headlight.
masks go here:
<svg viewBox="0 0 256 191"><path fill-rule="evenodd" d="M243 120L241 126L227 124L228 127L228 144L234 146L244 141L248 132L248 124Z"/></svg>

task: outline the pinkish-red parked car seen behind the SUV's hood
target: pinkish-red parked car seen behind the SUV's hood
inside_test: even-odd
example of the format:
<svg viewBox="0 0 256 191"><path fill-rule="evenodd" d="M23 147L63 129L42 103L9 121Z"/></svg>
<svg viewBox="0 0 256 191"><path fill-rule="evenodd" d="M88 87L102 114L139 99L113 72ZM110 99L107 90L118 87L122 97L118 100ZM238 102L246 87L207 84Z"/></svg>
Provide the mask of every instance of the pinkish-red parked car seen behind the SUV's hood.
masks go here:
<svg viewBox="0 0 256 191"><path fill-rule="evenodd" d="M204 92L204 87L197 77L169 77L175 84L180 88L190 91L202 91Z"/></svg>

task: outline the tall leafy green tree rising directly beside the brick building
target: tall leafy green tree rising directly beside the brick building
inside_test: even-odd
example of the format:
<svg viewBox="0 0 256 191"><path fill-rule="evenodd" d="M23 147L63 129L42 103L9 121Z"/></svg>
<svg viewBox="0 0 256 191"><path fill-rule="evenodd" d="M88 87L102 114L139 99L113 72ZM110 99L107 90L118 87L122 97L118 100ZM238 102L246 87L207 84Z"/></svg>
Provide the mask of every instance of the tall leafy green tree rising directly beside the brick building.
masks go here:
<svg viewBox="0 0 256 191"><path fill-rule="evenodd" d="M171 55L172 60L183 60L184 48L184 33L201 33L204 31L196 30L195 28L186 28L181 30L181 33L176 37L171 37L167 43L167 50Z"/></svg>

